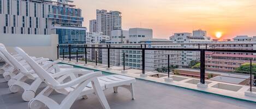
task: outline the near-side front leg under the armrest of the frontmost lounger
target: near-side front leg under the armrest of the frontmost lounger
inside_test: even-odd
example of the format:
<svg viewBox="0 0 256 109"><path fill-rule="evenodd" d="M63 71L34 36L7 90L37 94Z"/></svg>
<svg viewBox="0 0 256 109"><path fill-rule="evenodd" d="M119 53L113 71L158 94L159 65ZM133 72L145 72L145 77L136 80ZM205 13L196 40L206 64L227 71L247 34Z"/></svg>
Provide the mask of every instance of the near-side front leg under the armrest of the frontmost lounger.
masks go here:
<svg viewBox="0 0 256 109"><path fill-rule="evenodd" d="M108 101L106 100L105 94L103 93L102 88L99 85L98 79L94 79L92 81L92 87L94 89L94 92L96 92L97 98L100 101L100 104L102 104L104 109L110 109Z"/></svg>

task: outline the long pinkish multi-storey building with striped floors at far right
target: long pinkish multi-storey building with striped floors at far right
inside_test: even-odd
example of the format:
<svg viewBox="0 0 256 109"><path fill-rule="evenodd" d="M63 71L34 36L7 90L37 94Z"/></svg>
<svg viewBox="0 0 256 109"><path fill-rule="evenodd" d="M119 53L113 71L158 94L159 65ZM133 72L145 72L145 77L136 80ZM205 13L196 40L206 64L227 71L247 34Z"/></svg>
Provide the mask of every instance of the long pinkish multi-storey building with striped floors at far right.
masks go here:
<svg viewBox="0 0 256 109"><path fill-rule="evenodd" d="M213 49L232 50L256 50L256 36L236 36L234 41L212 42ZM249 63L250 59L256 59L253 53L227 53L227 52L207 52L206 68L220 71L234 71L243 63Z"/></svg>

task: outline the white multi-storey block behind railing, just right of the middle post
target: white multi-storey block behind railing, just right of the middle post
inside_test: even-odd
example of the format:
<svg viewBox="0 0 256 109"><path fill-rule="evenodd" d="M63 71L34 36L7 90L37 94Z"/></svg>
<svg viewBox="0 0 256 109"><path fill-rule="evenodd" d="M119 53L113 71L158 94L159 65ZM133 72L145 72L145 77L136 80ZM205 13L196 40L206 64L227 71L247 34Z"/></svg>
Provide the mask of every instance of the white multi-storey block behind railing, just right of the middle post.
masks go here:
<svg viewBox="0 0 256 109"><path fill-rule="evenodd" d="M140 43L147 44L147 48L180 48L180 44L166 44L171 43L167 39L151 39L140 41ZM155 43L155 44L151 44ZM159 43L159 44L156 44ZM161 44L163 43L163 44ZM174 50L145 50L145 70L153 71L157 68L168 67L168 55L170 55L169 65L180 65L181 51ZM127 60L128 61L128 60ZM130 60L129 60L130 61Z"/></svg>

